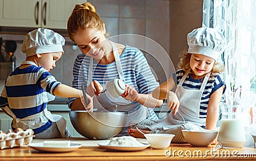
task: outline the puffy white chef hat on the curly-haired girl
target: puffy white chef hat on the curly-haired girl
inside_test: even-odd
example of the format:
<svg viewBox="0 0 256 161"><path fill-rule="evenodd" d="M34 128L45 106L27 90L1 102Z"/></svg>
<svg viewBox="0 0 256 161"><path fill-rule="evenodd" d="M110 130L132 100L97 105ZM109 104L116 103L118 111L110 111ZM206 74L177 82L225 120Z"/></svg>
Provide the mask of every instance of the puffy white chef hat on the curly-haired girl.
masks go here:
<svg viewBox="0 0 256 161"><path fill-rule="evenodd" d="M200 27L188 33L188 53L202 54L217 60L225 50L226 41L217 29Z"/></svg>

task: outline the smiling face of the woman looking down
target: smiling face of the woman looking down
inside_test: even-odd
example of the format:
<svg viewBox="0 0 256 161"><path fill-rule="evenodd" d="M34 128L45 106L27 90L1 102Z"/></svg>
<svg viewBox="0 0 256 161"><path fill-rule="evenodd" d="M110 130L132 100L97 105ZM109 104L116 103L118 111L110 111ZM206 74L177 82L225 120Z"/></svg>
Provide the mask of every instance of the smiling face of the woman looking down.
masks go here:
<svg viewBox="0 0 256 161"><path fill-rule="evenodd" d="M83 52L95 60L100 60L106 53L106 37L105 31L100 31L97 28L79 29L74 35L74 42Z"/></svg>

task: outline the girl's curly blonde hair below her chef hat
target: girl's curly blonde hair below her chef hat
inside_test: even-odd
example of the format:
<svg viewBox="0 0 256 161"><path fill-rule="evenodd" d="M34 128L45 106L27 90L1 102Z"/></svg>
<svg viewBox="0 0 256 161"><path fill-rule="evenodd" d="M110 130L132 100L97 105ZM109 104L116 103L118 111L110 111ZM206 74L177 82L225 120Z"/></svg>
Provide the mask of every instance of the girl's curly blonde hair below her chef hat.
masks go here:
<svg viewBox="0 0 256 161"><path fill-rule="evenodd" d="M180 58L180 62L178 64L178 69L184 69L184 70L189 70L190 68L190 57L192 54L183 51L182 52L182 57ZM225 66L219 62L214 63L212 67L212 73L218 73L218 72L224 72Z"/></svg>

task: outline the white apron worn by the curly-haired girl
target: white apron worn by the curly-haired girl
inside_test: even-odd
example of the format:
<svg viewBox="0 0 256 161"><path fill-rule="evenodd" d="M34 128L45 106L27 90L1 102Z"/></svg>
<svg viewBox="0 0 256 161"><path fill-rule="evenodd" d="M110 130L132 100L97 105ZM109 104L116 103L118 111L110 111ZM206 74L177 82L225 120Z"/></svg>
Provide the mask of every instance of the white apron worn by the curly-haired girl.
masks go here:
<svg viewBox="0 0 256 161"><path fill-rule="evenodd" d="M159 128L171 128L175 126L185 125L185 127L198 129L200 126L205 125L205 118L199 118L200 103L201 98L204 93L205 86L211 75L207 73L202 82L201 88L198 89L184 89L182 87L183 82L189 74L189 70L183 75L179 84L177 84L177 89L175 91L177 97L179 98L180 106L179 112L173 115L173 111L168 114L168 116L156 124L152 125L151 129Z"/></svg>

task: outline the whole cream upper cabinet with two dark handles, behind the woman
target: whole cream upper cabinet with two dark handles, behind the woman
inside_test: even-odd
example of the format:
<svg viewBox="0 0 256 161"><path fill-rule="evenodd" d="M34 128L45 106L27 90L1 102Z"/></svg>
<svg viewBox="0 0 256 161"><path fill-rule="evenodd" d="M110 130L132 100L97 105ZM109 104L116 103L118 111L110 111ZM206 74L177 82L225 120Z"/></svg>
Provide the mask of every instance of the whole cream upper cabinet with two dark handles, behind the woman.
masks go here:
<svg viewBox="0 0 256 161"><path fill-rule="evenodd" d="M0 26L67 29L76 4L86 0L0 0Z"/></svg>

